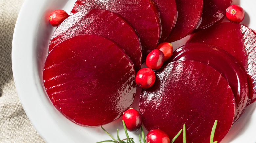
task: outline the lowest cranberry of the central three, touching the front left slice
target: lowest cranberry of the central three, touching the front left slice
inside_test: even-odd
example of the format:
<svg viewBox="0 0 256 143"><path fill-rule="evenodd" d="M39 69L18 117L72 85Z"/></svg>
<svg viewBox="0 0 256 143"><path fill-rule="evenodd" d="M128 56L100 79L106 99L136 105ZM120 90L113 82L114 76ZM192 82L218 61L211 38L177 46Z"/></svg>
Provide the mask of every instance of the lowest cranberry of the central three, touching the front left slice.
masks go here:
<svg viewBox="0 0 256 143"><path fill-rule="evenodd" d="M155 83L156 75L154 71L150 68L140 69L135 77L136 84L144 89L152 87Z"/></svg>

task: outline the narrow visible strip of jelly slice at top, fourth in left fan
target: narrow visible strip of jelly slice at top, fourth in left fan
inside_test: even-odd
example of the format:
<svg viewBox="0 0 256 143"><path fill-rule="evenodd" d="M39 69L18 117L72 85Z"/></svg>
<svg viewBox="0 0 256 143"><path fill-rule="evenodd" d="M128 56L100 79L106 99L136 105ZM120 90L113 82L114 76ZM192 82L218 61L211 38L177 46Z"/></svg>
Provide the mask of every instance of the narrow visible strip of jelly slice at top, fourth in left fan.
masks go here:
<svg viewBox="0 0 256 143"><path fill-rule="evenodd" d="M156 3L162 24L162 36L159 43L164 42L170 35L177 20L177 8L175 0L154 0Z"/></svg>

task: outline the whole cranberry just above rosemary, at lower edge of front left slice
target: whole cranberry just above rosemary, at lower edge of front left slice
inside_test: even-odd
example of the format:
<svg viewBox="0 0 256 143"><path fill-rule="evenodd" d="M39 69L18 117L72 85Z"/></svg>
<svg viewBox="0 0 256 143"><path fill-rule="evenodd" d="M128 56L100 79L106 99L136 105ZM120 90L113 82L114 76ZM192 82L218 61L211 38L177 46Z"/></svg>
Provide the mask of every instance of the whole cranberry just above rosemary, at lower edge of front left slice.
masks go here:
<svg viewBox="0 0 256 143"><path fill-rule="evenodd" d="M123 121L127 130L130 132L138 131L142 125L140 113L133 108L130 108L123 113Z"/></svg>

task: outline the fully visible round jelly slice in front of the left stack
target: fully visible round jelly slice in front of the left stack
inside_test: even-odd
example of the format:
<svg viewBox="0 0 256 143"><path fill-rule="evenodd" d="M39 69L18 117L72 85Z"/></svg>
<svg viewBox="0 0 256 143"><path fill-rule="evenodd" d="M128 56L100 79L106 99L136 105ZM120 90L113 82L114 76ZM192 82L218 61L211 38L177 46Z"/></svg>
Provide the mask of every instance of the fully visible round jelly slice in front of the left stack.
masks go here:
<svg viewBox="0 0 256 143"><path fill-rule="evenodd" d="M53 105L83 126L119 118L136 92L130 58L98 35L74 35L57 44L46 58L43 80Z"/></svg>

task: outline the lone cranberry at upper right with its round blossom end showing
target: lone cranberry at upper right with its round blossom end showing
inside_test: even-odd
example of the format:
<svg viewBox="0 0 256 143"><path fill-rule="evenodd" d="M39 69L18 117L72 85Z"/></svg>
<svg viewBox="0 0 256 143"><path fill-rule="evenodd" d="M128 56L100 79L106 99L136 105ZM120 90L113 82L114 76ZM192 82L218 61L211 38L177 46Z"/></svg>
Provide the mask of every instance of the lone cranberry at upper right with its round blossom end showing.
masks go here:
<svg viewBox="0 0 256 143"><path fill-rule="evenodd" d="M226 17L231 22L240 23L245 18L245 11L239 5L231 5L226 10Z"/></svg>

